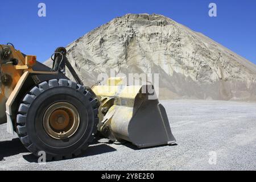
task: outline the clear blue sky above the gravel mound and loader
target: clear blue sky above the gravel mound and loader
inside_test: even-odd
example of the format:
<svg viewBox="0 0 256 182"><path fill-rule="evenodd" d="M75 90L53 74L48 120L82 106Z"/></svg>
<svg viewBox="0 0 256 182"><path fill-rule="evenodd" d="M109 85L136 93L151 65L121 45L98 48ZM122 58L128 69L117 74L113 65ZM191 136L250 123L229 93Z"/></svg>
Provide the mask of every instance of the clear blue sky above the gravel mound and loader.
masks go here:
<svg viewBox="0 0 256 182"><path fill-rule="evenodd" d="M46 17L38 16L40 2L46 3ZM217 4L217 17L208 16L210 2ZM168 16L256 64L255 0L1 1L0 43L44 61L56 47L127 13Z"/></svg>

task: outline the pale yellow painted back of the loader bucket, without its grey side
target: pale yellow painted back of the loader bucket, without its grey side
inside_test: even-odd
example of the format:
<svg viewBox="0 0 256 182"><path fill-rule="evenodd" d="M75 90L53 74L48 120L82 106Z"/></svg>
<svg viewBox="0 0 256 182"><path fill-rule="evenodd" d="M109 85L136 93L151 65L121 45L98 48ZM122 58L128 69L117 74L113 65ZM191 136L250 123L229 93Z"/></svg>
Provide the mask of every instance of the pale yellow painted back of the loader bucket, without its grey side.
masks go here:
<svg viewBox="0 0 256 182"><path fill-rule="evenodd" d="M93 92L98 97L98 100L101 101L98 130L113 140L116 137L109 131L109 126L111 125L112 129L116 126L116 123L112 123L114 114L118 111L118 115L122 117L122 121L129 122L133 117L135 97L142 88L140 85L124 85L123 79L122 77L113 77L108 79L106 85L92 86ZM102 111L104 108L106 110L105 112Z"/></svg>

